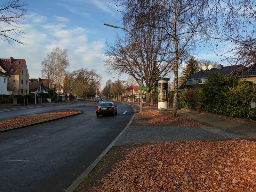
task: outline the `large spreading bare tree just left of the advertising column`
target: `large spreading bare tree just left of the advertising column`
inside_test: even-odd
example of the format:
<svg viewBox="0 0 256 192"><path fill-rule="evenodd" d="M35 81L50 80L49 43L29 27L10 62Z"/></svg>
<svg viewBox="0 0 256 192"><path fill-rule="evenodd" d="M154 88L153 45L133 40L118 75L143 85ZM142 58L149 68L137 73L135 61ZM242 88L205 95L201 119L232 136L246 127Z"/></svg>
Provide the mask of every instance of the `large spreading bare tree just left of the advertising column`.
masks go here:
<svg viewBox="0 0 256 192"><path fill-rule="evenodd" d="M137 84L149 87L146 94L146 104L149 106L148 93L154 88L156 78L165 76L172 70L165 54L170 41L164 39L164 30L158 30L149 24L136 28L127 24L127 28L132 32L125 31L124 38L116 36L113 45L107 43L107 59L104 62L108 66L108 73L126 73L132 76Z"/></svg>

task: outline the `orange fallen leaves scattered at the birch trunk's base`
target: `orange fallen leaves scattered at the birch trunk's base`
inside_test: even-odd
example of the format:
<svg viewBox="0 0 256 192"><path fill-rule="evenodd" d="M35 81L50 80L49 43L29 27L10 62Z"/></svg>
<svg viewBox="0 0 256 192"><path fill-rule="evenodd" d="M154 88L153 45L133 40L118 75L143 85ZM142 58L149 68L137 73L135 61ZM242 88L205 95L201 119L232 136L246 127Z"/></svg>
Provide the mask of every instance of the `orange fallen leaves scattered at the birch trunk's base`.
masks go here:
<svg viewBox="0 0 256 192"><path fill-rule="evenodd" d="M176 126L205 126L205 123L195 121L192 118L178 114L172 117L172 112L160 112L157 110L144 110L139 112L140 115L154 117L148 121L151 124L173 123ZM207 125L209 126L209 125Z"/></svg>

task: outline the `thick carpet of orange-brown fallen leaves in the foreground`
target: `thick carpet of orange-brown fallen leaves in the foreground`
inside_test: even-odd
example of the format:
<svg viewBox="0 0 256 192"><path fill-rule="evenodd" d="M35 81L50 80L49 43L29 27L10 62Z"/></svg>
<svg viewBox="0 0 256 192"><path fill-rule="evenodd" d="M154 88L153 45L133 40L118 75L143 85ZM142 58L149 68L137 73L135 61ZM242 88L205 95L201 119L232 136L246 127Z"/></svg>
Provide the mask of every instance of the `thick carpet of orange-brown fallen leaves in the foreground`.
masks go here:
<svg viewBox="0 0 256 192"><path fill-rule="evenodd" d="M175 141L131 150L95 191L255 191L256 142Z"/></svg>

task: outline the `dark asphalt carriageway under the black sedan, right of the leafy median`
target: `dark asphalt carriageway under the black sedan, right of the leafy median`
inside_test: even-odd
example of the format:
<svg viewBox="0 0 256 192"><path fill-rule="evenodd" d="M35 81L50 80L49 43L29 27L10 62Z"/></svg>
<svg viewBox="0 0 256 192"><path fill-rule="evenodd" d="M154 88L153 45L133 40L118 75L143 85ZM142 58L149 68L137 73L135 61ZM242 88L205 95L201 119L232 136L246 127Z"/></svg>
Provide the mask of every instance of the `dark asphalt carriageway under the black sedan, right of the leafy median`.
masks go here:
<svg viewBox="0 0 256 192"><path fill-rule="evenodd" d="M95 107L79 103L53 106L55 110L69 107L82 113L1 133L0 191L65 191L132 118L130 105L116 105L118 114L114 117L96 117Z"/></svg>

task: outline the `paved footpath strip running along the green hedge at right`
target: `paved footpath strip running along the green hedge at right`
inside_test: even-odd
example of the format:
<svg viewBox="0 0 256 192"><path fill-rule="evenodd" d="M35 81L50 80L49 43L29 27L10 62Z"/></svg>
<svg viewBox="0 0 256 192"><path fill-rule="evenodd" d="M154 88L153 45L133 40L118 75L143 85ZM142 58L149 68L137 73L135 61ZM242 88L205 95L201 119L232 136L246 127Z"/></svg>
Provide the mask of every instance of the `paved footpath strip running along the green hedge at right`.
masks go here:
<svg viewBox="0 0 256 192"><path fill-rule="evenodd" d="M233 132L239 132L243 135L256 139L256 124L249 119L236 119L228 116L218 116L210 113L200 113L183 109L179 110L178 113L204 123L212 124L216 128L223 128Z"/></svg>

